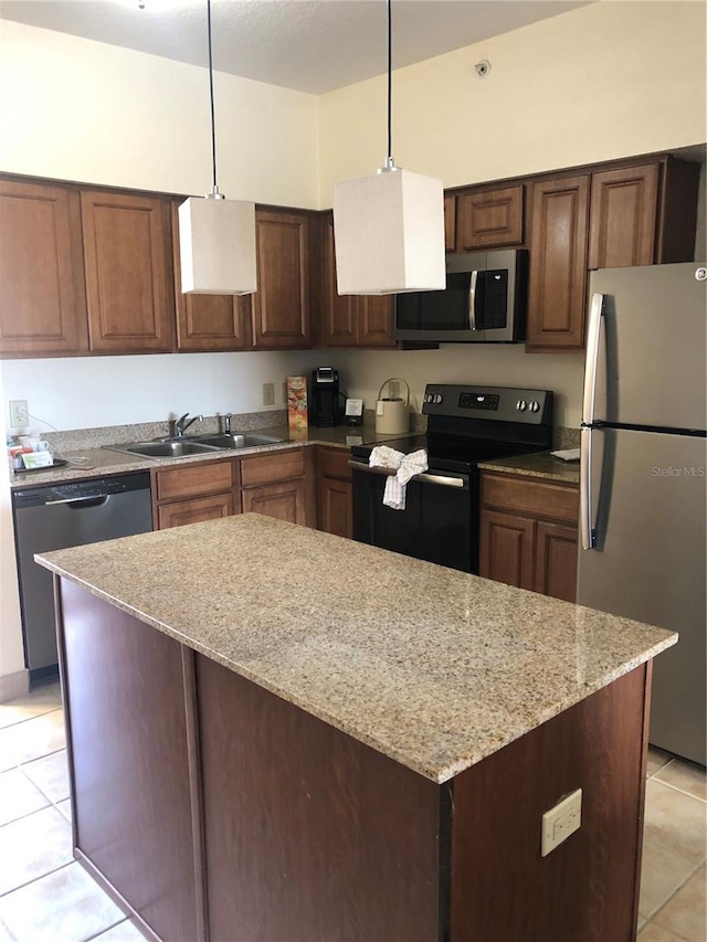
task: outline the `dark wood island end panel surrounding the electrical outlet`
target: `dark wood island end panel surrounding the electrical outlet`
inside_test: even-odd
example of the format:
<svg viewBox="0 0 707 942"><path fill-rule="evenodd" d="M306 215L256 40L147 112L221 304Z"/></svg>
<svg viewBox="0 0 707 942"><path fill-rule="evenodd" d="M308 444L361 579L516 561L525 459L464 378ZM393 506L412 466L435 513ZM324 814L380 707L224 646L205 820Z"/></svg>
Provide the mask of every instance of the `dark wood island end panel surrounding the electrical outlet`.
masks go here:
<svg viewBox="0 0 707 942"><path fill-rule="evenodd" d="M454 780L452 940L636 938L650 670L636 668ZM542 815L576 788L581 827L542 857Z"/></svg>

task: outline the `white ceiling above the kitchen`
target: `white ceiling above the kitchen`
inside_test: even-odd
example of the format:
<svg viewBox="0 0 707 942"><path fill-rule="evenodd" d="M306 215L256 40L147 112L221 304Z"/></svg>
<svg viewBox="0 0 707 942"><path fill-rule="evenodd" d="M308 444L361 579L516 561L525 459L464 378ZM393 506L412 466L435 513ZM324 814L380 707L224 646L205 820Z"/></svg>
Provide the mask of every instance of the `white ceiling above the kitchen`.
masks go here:
<svg viewBox="0 0 707 942"><path fill-rule="evenodd" d="M205 0L0 0L0 17L205 66ZM400 68L592 0L394 0ZM387 66L383 0L212 0L214 68L321 94Z"/></svg>

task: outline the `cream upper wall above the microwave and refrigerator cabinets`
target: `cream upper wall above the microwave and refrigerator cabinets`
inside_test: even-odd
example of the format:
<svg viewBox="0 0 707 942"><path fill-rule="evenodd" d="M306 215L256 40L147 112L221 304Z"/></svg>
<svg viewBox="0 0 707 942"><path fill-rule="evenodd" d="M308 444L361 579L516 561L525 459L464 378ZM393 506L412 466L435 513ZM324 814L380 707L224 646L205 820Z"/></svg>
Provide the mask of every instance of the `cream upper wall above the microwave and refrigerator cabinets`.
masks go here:
<svg viewBox="0 0 707 942"><path fill-rule="evenodd" d="M399 70L395 161L457 187L704 142L706 10L602 0ZM386 157L384 78L319 104L327 207L335 180Z"/></svg>

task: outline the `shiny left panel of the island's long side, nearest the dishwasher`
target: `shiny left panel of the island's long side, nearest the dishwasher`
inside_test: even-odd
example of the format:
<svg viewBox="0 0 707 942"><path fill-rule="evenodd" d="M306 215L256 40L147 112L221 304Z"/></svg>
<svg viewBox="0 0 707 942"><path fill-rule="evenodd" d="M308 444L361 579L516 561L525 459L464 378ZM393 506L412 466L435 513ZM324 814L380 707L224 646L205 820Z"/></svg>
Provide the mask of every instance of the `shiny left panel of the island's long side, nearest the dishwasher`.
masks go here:
<svg viewBox="0 0 707 942"><path fill-rule="evenodd" d="M147 939L201 942L191 653L72 582L59 597L74 856Z"/></svg>

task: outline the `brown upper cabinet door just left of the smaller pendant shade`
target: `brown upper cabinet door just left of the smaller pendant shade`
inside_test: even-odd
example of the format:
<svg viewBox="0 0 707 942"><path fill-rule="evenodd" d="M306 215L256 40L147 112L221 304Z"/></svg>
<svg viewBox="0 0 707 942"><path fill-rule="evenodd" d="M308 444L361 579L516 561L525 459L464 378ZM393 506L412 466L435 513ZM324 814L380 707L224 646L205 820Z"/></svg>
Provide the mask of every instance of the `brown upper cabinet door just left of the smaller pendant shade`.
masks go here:
<svg viewBox="0 0 707 942"><path fill-rule="evenodd" d="M172 349L173 296L167 201L83 191L81 211L91 349Z"/></svg>

